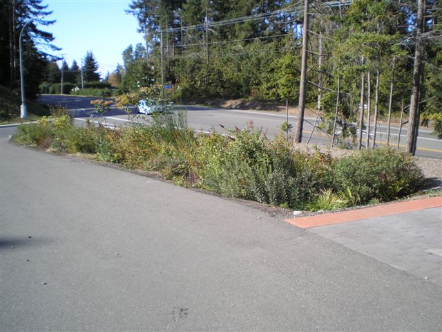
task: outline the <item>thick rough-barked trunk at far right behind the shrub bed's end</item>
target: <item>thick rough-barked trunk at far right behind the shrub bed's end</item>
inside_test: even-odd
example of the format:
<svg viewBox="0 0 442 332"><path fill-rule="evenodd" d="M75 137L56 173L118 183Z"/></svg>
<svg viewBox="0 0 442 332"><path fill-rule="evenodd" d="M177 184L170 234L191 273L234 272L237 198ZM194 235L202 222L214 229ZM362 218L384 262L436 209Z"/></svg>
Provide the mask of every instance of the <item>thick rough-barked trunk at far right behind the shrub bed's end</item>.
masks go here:
<svg viewBox="0 0 442 332"><path fill-rule="evenodd" d="M422 41L423 33L423 0L417 1L416 17L416 50L414 51L413 66L413 89L410 102L410 116L408 118L408 133L406 151L414 156L416 153L416 136L419 129L419 98L421 94L421 70L422 70Z"/></svg>

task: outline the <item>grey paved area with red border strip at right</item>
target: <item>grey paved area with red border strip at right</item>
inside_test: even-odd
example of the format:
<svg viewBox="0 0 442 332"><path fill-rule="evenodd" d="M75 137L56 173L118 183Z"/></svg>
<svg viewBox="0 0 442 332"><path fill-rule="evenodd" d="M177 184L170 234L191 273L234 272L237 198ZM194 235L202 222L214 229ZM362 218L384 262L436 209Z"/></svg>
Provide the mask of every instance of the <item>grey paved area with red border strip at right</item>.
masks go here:
<svg viewBox="0 0 442 332"><path fill-rule="evenodd" d="M442 287L442 197L287 222Z"/></svg>

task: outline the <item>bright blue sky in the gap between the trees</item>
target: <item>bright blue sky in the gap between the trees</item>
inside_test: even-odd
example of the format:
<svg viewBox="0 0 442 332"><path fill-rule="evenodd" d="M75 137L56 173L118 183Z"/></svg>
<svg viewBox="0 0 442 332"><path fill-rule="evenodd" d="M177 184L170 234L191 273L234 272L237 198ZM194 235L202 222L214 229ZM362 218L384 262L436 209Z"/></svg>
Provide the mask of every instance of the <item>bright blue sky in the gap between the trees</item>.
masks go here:
<svg viewBox="0 0 442 332"><path fill-rule="evenodd" d="M137 33L137 19L124 10L130 0L44 0L52 15L46 19L57 20L52 26L39 27L52 33L59 51L49 52L64 55L68 66L73 60L80 66L81 58L91 50L99 64L102 78L122 64L123 50L132 44L143 42L143 35ZM58 62L61 66L61 62Z"/></svg>

